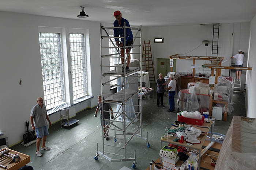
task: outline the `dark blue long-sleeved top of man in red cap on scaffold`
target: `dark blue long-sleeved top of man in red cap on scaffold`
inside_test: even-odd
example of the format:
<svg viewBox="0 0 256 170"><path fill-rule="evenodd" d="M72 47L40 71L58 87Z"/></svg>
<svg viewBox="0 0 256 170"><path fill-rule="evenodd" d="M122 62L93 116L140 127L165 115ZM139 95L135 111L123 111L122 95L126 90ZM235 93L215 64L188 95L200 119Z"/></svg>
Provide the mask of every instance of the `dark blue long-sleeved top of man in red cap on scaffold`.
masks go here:
<svg viewBox="0 0 256 170"><path fill-rule="evenodd" d="M126 27L130 27L129 21L124 19L123 17L121 19L121 24L120 25L119 25L117 20L114 21L114 27L123 27L124 22L125 22ZM123 28L114 28L114 36L115 37L118 37L118 36L123 37L124 36L124 29ZM117 41L119 39L115 38L115 40ZM126 28L125 29L125 43L131 42L131 41L133 41L132 30L131 30L131 28ZM120 43L124 43L123 38L121 38Z"/></svg>

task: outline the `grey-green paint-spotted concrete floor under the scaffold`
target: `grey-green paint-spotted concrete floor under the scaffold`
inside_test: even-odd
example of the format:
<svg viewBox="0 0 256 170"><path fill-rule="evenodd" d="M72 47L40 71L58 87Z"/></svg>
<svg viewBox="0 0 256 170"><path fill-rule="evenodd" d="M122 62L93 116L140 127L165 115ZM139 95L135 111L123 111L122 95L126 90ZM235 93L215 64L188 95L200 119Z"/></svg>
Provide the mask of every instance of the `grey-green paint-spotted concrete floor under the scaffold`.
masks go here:
<svg viewBox="0 0 256 170"><path fill-rule="evenodd" d="M156 95L155 95L156 97ZM228 116L227 121L216 121L213 132L226 134L233 115L245 116L245 101L242 94L235 94L233 97L235 111ZM176 95L177 109L177 95ZM143 99L143 136L149 134L150 148L147 148L145 140L133 137L127 146L127 158L132 158L136 150L136 169L144 170L149 166L151 160L159 157L161 146L160 138L164 134L166 126L174 123L177 119L175 112L167 112L169 103L167 96L164 96L164 105L166 107L156 107L156 99ZM49 136L46 146L51 147L50 151L42 151L43 156L35 155L35 144L25 147L17 145L11 149L30 155L31 162L35 170L119 170L123 166L132 169L132 161L128 162L109 162L105 158L99 157L94 161L96 153L96 143L99 143L99 151L102 151L102 129L99 122L99 116L94 117L95 108L83 111L76 115L79 119L78 125L61 128L59 122L49 128ZM113 133L113 132L110 132ZM104 139L105 140L105 139ZM113 139L106 143L115 143ZM115 145L121 145L118 141ZM121 149L122 151L122 149ZM122 154L116 150L116 153Z"/></svg>

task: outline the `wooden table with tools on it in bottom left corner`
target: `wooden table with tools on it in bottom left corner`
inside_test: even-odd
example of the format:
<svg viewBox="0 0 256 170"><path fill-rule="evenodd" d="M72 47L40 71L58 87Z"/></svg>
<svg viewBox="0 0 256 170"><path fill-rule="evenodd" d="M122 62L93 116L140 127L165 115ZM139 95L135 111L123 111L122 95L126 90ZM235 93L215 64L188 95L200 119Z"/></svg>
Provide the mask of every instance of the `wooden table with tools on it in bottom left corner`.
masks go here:
<svg viewBox="0 0 256 170"><path fill-rule="evenodd" d="M7 148L1 149L0 152L3 151L3 150L6 150L6 149ZM0 164L3 165L3 166L7 166L7 170L18 170L19 168L21 168L22 166L24 166L24 165L26 165L27 163L30 162L30 156L29 155L25 155L23 153L19 153L15 150L11 150L11 149L8 149L8 150L9 150L10 154L18 153L19 156L20 156L20 160L17 163L13 162L13 163L10 163L10 164L8 164L11 161L10 158L5 159L4 161L1 161ZM0 168L0 169L3 169L3 168Z"/></svg>

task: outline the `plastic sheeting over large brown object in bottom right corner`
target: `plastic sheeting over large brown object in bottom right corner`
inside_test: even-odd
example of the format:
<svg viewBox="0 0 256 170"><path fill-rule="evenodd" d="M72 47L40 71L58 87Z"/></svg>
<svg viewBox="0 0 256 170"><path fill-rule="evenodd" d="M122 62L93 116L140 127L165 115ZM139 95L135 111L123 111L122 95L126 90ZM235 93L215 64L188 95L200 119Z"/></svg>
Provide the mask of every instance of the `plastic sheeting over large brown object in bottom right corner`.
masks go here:
<svg viewBox="0 0 256 170"><path fill-rule="evenodd" d="M256 119L234 116L221 147L215 170L256 168Z"/></svg>

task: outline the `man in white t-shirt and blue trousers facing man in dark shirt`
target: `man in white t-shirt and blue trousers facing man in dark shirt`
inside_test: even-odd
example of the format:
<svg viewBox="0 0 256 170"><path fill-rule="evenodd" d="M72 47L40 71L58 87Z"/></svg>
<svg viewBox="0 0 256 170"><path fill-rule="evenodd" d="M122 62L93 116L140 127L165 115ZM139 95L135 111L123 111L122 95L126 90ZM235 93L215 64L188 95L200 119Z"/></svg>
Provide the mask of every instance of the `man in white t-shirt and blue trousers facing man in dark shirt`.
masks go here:
<svg viewBox="0 0 256 170"><path fill-rule="evenodd" d="M175 96L175 89L176 89L176 80L173 79L174 78L174 75L173 74L170 74L169 75L169 79L170 79L170 83L168 84L168 87L165 89L166 90L169 90L169 105L170 105L170 108L169 112L173 112L175 110L175 103L174 103L174 96Z"/></svg>

